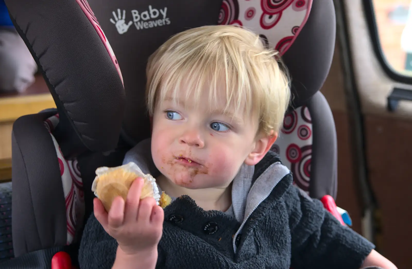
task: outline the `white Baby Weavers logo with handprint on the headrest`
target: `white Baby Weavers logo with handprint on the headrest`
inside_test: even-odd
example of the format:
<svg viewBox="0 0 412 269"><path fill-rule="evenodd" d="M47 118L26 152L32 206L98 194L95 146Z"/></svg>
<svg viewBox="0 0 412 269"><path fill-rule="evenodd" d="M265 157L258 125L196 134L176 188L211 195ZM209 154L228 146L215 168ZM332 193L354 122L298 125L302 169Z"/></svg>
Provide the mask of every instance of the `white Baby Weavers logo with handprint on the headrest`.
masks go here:
<svg viewBox="0 0 412 269"><path fill-rule="evenodd" d="M129 21L127 23L126 10L123 10L122 13L120 9L117 9L117 14L114 11L112 14L113 18L110 18L110 22L116 26L119 34L126 33L132 24L136 26L137 30L170 24L170 19L167 17L167 7L164 7L163 9L156 9L149 5L148 9L143 12L133 9L131 10L133 21Z"/></svg>

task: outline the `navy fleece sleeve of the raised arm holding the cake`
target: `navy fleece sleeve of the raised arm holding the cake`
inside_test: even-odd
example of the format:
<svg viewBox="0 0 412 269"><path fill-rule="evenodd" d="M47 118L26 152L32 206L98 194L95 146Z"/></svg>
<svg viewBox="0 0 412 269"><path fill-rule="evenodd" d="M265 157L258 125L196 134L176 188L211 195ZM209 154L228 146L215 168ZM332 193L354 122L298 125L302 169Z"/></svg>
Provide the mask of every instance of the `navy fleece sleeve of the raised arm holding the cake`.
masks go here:
<svg viewBox="0 0 412 269"><path fill-rule="evenodd" d="M117 241L106 233L92 213L80 241L80 269L111 269L116 250Z"/></svg>

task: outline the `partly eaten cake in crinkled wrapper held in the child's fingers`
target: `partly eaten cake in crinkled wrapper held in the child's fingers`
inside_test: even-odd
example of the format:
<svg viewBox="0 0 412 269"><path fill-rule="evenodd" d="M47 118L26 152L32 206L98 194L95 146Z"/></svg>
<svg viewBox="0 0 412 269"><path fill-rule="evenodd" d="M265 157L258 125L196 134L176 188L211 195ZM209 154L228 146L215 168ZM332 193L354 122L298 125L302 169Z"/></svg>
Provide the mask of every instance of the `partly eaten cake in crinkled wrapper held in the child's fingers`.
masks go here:
<svg viewBox="0 0 412 269"><path fill-rule="evenodd" d="M155 178L150 174L143 174L142 170L133 162L113 168L97 168L91 190L109 212L115 197L121 196L126 201L130 186L137 177L144 179L140 199L151 196L159 204L160 194Z"/></svg>

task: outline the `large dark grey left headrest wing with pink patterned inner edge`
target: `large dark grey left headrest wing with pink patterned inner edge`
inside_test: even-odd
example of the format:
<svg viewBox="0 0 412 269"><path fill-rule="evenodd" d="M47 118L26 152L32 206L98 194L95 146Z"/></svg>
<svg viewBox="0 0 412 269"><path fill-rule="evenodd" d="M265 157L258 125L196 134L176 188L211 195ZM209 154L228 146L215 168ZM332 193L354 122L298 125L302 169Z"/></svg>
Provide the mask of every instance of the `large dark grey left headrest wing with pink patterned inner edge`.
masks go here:
<svg viewBox="0 0 412 269"><path fill-rule="evenodd" d="M59 127L66 125L62 135L73 132L91 151L114 149L125 105L122 76L87 2L5 3L54 98Z"/></svg>

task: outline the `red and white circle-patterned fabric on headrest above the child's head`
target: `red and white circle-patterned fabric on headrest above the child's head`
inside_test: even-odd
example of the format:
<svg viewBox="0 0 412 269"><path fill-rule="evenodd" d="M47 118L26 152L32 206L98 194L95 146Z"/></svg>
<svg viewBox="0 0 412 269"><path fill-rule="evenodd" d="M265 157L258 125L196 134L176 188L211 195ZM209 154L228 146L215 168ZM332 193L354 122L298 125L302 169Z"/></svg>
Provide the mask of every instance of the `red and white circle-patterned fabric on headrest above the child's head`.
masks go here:
<svg viewBox="0 0 412 269"><path fill-rule="evenodd" d="M80 0L77 0L80 1ZM223 0L218 24L251 29L285 53L309 17L313 0Z"/></svg>

